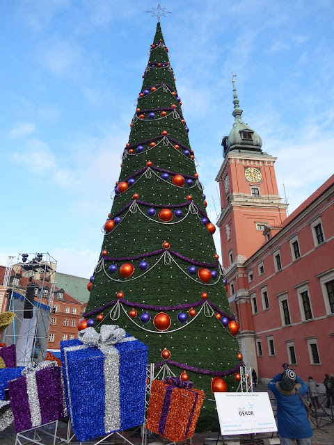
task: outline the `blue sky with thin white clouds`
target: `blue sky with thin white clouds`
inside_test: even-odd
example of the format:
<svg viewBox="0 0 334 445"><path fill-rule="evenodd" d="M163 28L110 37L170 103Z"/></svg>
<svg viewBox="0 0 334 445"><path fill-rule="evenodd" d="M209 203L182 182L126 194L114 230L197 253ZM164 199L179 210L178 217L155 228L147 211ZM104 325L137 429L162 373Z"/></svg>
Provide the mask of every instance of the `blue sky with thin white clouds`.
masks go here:
<svg viewBox="0 0 334 445"><path fill-rule="evenodd" d="M0 1L0 264L49 252L90 277L120 174L157 0ZM232 117L277 157L289 213L333 174L334 3L161 0L170 64L212 222ZM283 189L285 186L285 191ZM215 234L218 254L218 229Z"/></svg>

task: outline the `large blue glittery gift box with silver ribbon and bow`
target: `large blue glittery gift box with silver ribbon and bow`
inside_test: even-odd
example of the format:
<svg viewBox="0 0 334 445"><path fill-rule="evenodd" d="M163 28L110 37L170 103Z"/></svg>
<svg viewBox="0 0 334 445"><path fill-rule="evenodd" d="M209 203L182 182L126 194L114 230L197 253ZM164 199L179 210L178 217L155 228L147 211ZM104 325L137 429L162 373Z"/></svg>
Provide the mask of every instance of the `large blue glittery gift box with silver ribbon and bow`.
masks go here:
<svg viewBox="0 0 334 445"><path fill-rule="evenodd" d="M87 327L78 340L61 341L61 359L79 441L143 423L148 346L118 326L102 325L101 334Z"/></svg>

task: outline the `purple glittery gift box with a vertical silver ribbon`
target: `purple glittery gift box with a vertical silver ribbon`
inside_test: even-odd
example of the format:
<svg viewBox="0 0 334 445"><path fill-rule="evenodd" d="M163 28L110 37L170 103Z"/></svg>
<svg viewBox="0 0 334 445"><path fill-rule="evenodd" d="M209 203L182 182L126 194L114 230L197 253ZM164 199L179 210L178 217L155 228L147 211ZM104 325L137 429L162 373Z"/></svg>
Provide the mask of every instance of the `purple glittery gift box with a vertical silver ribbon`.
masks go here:
<svg viewBox="0 0 334 445"><path fill-rule="evenodd" d="M61 368L31 371L8 383L16 432L62 419Z"/></svg>

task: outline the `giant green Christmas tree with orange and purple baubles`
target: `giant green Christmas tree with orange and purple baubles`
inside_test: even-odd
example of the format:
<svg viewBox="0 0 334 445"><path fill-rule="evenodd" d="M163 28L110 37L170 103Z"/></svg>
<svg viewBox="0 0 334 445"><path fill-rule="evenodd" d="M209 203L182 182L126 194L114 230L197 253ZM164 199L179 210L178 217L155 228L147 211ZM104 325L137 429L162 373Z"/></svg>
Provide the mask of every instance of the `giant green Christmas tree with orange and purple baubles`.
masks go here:
<svg viewBox="0 0 334 445"><path fill-rule="evenodd" d="M185 371L214 399L212 378L237 389L239 327L159 22L130 127L81 327L120 325L149 346L156 372ZM215 410L206 400L200 428L217 423Z"/></svg>

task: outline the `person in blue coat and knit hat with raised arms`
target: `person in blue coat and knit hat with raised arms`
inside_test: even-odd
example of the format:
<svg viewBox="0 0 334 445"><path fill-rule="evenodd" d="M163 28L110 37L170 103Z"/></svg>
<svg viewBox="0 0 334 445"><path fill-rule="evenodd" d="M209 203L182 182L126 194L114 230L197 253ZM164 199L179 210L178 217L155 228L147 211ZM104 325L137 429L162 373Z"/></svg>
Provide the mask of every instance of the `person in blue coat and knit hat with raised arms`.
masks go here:
<svg viewBox="0 0 334 445"><path fill-rule="evenodd" d="M275 375L268 384L277 401L277 426L281 445L311 445L311 430L308 414L301 396L308 392L301 378L292 370L285 369L283 373Z"/></svg>

